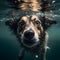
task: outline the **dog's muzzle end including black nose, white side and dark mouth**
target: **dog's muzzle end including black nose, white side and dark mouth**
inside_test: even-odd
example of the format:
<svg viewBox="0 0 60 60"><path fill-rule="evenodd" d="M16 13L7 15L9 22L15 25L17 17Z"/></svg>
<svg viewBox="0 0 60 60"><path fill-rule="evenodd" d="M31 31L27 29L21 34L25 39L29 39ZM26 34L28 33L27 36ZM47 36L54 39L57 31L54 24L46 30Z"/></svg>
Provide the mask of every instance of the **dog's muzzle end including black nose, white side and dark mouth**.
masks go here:
<svg viewBox="0 0 60 60"><path fill-rule="evenodd" d="M24 32L21 42L25 47L31 48L38 45L39 38L38 35L30 29Z"/></svg>

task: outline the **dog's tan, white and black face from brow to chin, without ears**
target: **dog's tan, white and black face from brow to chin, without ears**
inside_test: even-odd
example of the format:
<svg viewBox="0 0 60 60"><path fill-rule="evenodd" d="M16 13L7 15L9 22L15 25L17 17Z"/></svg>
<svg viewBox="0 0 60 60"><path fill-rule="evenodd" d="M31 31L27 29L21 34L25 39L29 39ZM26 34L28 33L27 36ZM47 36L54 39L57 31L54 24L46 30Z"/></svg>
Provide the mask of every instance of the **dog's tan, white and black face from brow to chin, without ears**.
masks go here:
<svg viewBox="0 0 60 60"><path fill-rule="evenodd" d="M39 36L43 33L43 26L38 16L23 16L18 23L17 33L21 35L22 43L27 47L39 43Z"/></svg>

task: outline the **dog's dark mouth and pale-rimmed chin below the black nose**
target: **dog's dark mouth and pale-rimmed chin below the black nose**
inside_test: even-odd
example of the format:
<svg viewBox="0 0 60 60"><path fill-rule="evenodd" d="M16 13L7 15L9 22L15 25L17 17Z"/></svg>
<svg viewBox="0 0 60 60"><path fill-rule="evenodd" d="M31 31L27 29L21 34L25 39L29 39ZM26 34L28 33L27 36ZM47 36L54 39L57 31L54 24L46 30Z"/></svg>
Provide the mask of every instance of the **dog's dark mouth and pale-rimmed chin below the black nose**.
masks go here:
<svg viewBox="0 0 60 60"><path fill-rule="evenodd" d="M37 40L36 38L32 38L32 39L23 38L21 42L25 47L28 48L35 47L39 44L39 40Z"/></svg>

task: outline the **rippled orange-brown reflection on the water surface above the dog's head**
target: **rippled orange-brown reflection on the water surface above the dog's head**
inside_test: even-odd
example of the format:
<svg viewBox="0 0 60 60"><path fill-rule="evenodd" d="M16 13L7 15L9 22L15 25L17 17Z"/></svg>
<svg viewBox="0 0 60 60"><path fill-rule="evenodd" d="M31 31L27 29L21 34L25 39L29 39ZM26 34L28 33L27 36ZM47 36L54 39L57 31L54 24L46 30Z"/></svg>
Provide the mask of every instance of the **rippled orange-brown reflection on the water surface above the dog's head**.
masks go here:
<svg viewBox="0 0 60 60"><path fill-rule="evenodd" d="M42 9L41 2L38 0L24 0L24 3L20 4L18 7L25 11L40 11Z"/></svg>

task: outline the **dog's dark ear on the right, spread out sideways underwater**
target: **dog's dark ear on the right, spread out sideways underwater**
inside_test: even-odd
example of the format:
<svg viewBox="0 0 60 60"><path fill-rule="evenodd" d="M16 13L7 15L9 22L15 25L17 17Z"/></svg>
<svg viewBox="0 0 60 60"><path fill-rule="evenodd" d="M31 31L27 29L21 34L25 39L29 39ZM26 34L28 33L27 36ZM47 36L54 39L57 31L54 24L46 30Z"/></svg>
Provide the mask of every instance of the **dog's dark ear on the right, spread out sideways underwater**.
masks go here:
<svg viewBox="0 0 60 60"><path fill-rule="evenodd" d="M44 17L42 21L42 25L44 29L46 30L48 27L50 27L52 24L56 24L57 22L55 20L52 20L50 18Z"/></svg>

